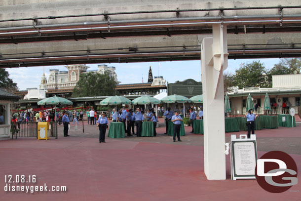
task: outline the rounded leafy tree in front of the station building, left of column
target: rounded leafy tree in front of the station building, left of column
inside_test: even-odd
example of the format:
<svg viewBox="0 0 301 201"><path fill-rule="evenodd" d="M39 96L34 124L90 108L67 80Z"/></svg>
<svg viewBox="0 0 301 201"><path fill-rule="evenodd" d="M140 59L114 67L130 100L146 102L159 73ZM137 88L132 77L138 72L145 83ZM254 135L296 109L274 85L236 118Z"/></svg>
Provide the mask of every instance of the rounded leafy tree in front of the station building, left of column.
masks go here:
<svg viewBox="0 0 301 201"><path fill-rule="evenodd" d="M81 74L73 89L73 97L115 95L116 82L109 74L89 72Z"/></svg>

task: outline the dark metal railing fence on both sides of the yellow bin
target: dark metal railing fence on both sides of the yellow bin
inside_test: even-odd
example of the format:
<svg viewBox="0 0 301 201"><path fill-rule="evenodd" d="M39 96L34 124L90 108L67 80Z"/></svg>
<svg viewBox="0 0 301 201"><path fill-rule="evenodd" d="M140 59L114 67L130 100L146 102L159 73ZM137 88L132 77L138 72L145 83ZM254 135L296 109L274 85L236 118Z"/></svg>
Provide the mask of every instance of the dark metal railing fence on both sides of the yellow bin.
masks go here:
<svg viewBox="0 0 301 201"><path fill-rule="evenodd" d="M49 136L58 137L57 122L49 122ZM35 137L38 139L38 122L12 122L11 138L18 137Z"/></svg>

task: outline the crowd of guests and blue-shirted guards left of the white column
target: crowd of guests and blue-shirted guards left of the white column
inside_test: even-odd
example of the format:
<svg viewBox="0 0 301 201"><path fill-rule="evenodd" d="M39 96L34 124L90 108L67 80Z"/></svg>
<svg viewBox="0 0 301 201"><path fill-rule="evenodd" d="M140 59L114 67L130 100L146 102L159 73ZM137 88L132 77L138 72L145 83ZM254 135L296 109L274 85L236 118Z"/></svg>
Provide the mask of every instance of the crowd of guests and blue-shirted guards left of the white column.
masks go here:
<svg viewBox="0 0 301 201"><path fill-rule="evenodd" d="M193 125L193 121L196 119L196 113L194 109L191 107L188 113L188 117L190 118L190 122ZM181 112L176 110L173 112L171 108L167 108L164 111L164 107L158 108L157 113L160 116L164 115L166 117L166 132L168 128L168 121L171 121L174 125L174 136L173 140L175 142L176 136L178 136L178 141L180 139L180 128L181 128L181 121L183 121L182 117L179 114L183 114L183 108ZM132 109L125 109L124 107L119 111L116 108L113 108L112 111L107 111L107 113L102 112L97 113L94 109L87 110L87 111L77 111L77 110L68 110L64 112L54 112L48 110L40 110L37 112L21 112L21 113L13 113L11 121L12 122L42 122L42 121L57 121L60 125L63 124L64 126L64 137L68 137L68 131L70 130L70 123L73 122L75 126L75 130L77 129L77 125L79 124L78 121L83 121L83 115L86 114L87 116L87 123L89 125L97 125L99 129L99 143L105 143L105 134L106 129L108 129L108 118L112 117L113 122L122 122L124 125L124 132L127 133L127 136L137 135L137 137L141 137L142 132L142 123L143 121L150 121L153 122L153 136L156 136L156 126L158 121L157 113L154 111L153 108L147 109L147 113L144 116L143 108L136 108L136 111ZM99 115L100 114L100 115ZM203 111L202 109L198 113L199 118L203 118ZM18 124L19 126L19 124ZM135 126L136 126L136 133L135 133ZM193 127L192 131L193 132Z"/></svg>

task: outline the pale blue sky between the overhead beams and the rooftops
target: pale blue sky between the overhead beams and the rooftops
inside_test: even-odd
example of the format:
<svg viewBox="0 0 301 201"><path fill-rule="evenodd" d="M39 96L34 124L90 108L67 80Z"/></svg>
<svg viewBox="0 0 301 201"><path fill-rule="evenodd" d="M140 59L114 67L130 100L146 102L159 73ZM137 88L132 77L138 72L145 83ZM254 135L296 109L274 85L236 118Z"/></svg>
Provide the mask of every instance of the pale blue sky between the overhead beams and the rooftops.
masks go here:
<svg viewBox="0 0 301 201"><path fill-rule="evenodd" d="M266 69L271 69L274 64L279 63L280 59L236 59L228 60L228 68L225 73L235 73L236 69L239 69L242 63L248 63L253 61L260 61L264 64ZM98 64L87 64L90 68L88 70L97 70ZM193 79L201 81L201 61L167 61L160 62L161 68L159 68L159 62L145 62L145 63L111 63L106 64L108 66L116 67L116 74L120 84L128 83L141 83L142 78L144 82L148 81L149 69L151 66L152 76L163 76L166 82L174 83L175 81L183 81L186 79ZM26 90L27 88L38 88L41 77L43 75L43 69L45 69L45 76L48 80L50 69L59 69L60 71L66 71L64 66L40 66L40 67L22 67L6 69L9 73L9 78L12 79L19 90Z"/></svg>

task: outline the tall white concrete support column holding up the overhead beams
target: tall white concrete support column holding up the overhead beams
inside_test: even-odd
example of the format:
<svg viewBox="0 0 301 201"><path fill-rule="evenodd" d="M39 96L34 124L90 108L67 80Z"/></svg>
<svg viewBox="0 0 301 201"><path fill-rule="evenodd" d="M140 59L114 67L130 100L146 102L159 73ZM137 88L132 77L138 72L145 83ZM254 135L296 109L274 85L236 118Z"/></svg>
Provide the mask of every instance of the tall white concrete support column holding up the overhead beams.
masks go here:
<svg viewBox="0 0 301 201"><path fill-rule="evenodd" d="M226 26L213 25L201 45L204 108L204 170L209 180L226 179L223 70L227 68Z"/></svg>

